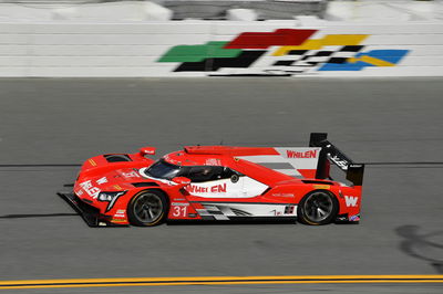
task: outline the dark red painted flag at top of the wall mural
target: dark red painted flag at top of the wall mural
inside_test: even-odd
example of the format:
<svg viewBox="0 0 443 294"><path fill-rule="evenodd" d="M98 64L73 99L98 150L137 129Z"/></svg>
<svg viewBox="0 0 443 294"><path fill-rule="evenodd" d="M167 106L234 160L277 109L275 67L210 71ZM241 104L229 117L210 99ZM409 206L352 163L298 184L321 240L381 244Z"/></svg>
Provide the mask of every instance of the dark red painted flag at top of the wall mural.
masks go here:
<svg viewBox="0 0 443 294"><path fill-rule="evenodd" d="M225 49L267 49L268 46L300 45L317 30L278 29L274 32L245 32Z"/></svg>

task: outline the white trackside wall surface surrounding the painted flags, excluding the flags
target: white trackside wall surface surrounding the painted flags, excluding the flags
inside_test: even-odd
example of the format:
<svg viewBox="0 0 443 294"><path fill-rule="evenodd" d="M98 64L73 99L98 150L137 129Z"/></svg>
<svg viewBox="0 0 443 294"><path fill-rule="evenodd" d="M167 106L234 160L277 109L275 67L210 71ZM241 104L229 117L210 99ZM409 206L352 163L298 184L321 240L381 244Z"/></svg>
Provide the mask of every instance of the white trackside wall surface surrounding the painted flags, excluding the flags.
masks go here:
<svg viewBox="0 0 443 294"><path fill-rule="evenodd" d="M360 43L364 45L360 53L371 50L406 50L408 53L393 66L363 66L359 71L319 71L324 62L313 66L274 65L277 61L295 57L274 56L280 45L266 49L266 53L247 67L174 72L181 62L158 62L176 45L229 42L243 32L272 32L277 29L317 30L309 40L322 39L328 34L368 34ZM342 45L322 50L338 51ZM316 51L308 53L313 54ZM435 21L382 24L301 18L293 21L257 22L0 23L0 76L205 76L269 73L293 76L443 76L442 53L443 22ZM293 69L301 69L302 72Z"/></svg>

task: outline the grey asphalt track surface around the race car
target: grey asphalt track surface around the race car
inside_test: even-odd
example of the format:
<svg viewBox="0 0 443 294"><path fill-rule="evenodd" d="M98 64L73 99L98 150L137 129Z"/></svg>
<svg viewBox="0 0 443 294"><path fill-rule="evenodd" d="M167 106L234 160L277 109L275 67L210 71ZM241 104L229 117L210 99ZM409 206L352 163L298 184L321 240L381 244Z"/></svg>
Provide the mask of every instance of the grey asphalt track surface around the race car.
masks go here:
<svg viewBox="0 0 443 294"><path fill-rule="evenodd" d="M442 78L0 80L0 281L443 274L442 93ZM310 132L329 133L370 164L360 224L91 229L55 196L78 171L63 165L97 154L220 141L306 146ZM442 285L0 292L442 293Z"/></svg>

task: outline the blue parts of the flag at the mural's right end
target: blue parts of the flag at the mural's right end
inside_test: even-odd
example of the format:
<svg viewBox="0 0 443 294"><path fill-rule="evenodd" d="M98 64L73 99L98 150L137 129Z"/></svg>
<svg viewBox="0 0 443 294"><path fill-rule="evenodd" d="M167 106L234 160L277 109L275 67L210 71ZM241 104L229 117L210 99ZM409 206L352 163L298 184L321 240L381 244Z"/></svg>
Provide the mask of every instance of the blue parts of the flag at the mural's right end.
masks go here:
<svg viewBox="0 0 443 294"><path fill-rule="evenodd" d="M399 63L409 50L371 50L369 52L358 53L354 57L361 57L363 55L387 61L393 64ZM318 71L361 71L367 66L377 66L370 63L358 61L356 63L326 63Z"/></svg>

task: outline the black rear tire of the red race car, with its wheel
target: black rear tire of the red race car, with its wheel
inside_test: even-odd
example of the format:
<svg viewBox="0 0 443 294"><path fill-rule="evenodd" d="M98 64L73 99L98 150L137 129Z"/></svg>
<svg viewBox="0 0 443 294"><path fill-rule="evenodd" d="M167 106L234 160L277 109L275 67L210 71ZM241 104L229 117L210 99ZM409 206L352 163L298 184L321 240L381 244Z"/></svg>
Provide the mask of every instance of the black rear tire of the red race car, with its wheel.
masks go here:
<svg viewBox="0 0 443 294"><path fill-rule="evenodd" d="M327 190L307 193L297 206L297 219L311 225L328 224L334 221L339 212L339 201Z"/></svg>

